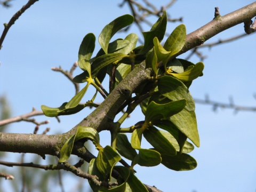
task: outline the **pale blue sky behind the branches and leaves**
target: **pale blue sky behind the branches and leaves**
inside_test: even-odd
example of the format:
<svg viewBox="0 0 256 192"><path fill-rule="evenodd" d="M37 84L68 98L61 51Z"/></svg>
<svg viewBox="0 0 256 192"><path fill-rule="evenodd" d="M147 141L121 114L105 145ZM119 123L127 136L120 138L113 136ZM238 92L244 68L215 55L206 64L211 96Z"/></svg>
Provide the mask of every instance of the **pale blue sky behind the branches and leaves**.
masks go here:
<svg viewBox="0 0 256 192"><path fill-rule="evenodd" d="M41 105L58 107L69 101L74 95L74 87L61 75L51 71L51 67L61 66L70 69L77 60L79 45L87 33L100 34L103 26L130 13L127 6L118 7L122 1L39 1L21 15L11 27L0 51L0 95L6 94L12 107L12 116L28 113L32 107ZM165 4L167 1L158 1ZM218 6L221 15L235 11L253 1L177 1L167 11L171 18L183 17L187 33L205 25L214 17L214 7ZM0 7L0 30L2 23L8 22L12 15L26 1L13 1L10 9ZM155 22L156 18L152 18ZM169 23L171 31L180 23ZM148 30L145 27L145 30ZM132 27L129 33L139 33ZM209 42L218 41L244 33L243 24L217 35ZM125 37L118 34L116 37ZM194 98L227 102L233 96L237 105L255 106L255 34L232 43L205 48L200 51L207 55L204 60L204 76L196 79L190 88ZM209 43L207 42L207 43ZM97 44L96 50L99 49ZM185 58L181 55L180 58ZM196 63L197 57L190 61ZM75 74L81 70L76 69ZM84 85L81 85L83 87ZM94 93L91 90L92 94ZM98 97L100 99L100 97ZM85 98L84 101L86 101ZM39 132L50 126L50 134L62 133L71 129L82 120L90 110L60 117L61 123L54 118L36 117L38 121L50 119L51 123L41 126ZM195 170L175 172L164 166L140 167L137 165L137 177L148 185L155 185L163 191L255 191L256 190L256 153L254 142L256 135L255 113L218 109L211 106L196 105L198 131L201 147L190 154L198 163ZM140 109L136 110L124 126L141 121ZM14 123L10 132L31 133L34 125ZM109 145L110 138L101 134L101 145ZM11 159L11 161L19 161ZM26 159L30 162L30 159ZM44 163L44 162L43 162ZM66 173L65 181L76 178ZM17 179L19 179L17 177ZM6 191L11 181L3 181ZM9 183L9 184L8 184ZM57 187L57 191L60 189ZM67 191L71 187L67 187Z"/></svg>

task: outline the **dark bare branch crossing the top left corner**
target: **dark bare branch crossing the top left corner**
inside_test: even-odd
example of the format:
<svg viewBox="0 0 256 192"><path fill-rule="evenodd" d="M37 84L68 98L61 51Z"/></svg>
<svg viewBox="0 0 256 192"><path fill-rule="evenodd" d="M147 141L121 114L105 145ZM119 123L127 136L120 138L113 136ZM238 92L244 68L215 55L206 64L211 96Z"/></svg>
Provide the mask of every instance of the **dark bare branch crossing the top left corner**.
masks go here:
<svg viewBox="0 0 256 192"><path fill-rule="evenodd" d="M2 48L2 44L4 42L4 38L6 36L6 34L8 33L10 27L14 24L14 22L19 19L20 15L22 13L24 13L31 5L33 5L35 2L37 2L38 0L29 0L28 3L26 5L23 5L22 8L17 12L15 13L11 20L9 21L9 23L4 23L4 31L2 33L2 36L0 38L0 50Z"/></svg>

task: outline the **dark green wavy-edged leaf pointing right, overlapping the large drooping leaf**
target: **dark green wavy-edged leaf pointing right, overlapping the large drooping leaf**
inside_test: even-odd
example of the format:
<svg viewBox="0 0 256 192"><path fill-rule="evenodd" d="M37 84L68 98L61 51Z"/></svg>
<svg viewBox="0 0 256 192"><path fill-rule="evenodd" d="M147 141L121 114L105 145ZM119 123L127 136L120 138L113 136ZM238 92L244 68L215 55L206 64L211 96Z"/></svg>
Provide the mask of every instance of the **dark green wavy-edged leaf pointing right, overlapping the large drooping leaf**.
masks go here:
<svg viewBox="0 0 256 192"><path fill-rule="evenodd" d="M167 119L174 114L179 113L186 106L186 99L178 101L171 101L165 104L158 104L155 101L149 103L145 114L145 122L152 122L155 120Z"/></svg>

